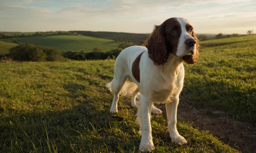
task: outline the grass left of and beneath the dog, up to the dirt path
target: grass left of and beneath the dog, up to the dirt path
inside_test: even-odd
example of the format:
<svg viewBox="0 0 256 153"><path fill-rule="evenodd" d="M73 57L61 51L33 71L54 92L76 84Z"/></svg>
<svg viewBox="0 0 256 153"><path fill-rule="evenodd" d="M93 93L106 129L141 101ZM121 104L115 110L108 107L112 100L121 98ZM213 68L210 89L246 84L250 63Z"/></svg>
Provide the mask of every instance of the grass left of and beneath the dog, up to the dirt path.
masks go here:
<svg viewBox="0 0 256 153"><path fill-rule="evenodd" d="M203 54L203 53L202 53ZM139 126L130 97L110 114L105 84L114 61L0 63L1 152L138 152ZM184 121L187 145L171 143L164 115L152 115L153 142L162 152L238 152Z"/></svg>

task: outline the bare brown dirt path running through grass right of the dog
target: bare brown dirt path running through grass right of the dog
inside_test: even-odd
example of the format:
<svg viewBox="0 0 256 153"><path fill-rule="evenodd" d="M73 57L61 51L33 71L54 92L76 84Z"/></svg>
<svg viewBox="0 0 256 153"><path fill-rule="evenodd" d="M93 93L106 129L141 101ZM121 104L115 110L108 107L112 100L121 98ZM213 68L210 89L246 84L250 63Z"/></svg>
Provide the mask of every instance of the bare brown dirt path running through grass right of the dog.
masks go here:
<svg viewBox="0 0 256 153"><path fill-rule="evenodd" d="M165 105L156 105L166 115ZM196 108L180 100L177 119L185 120L200 130L209 130L220 141L243 153L256 153L256 124L239 121L221 110Z"/></svg>

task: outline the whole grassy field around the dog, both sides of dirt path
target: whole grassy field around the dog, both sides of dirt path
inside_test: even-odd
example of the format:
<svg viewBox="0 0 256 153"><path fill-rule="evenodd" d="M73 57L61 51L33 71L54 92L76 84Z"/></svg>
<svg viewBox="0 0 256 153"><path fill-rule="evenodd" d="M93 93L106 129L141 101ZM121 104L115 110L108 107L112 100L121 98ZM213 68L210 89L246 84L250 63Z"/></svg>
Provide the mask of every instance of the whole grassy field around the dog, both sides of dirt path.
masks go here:
<svg viewBox="0 0 256 153"><path fill-rule="evenodd" d="M246 125L251 131L249 148L240 143L236 150L228 146L232 137L219 141L208 129L180 120L179 114L183 103L189 103L190 114L197 109L217 118L217 110L229 120L255 123L256 35L202 41L201 45L198 62L185 65L182 108L178 107L177 128L188 144L171 143L165 113L151 115L154 152L255 151L254 124ZM113 65L114 60L0 63L0 150L138 152L137 110L130 106L130 96L121 96L119 112L109 113L113 93L105 84L113 77ZM223 123L209 124L218 128Z"/></svg>

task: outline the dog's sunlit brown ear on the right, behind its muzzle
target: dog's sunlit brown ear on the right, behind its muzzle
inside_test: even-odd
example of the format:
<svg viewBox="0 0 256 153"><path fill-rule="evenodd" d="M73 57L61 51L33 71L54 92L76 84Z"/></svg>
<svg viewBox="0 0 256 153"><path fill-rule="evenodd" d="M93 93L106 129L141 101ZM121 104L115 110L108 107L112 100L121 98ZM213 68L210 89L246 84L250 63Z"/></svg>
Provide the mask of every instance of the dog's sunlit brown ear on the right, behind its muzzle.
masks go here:
<svg viewBox="0 0 256 153"><path fill-rule="evenodd" d="M198 56L199 56L200 45L198 43L198 39L197 39L196 34L194 33L194 31L192 32L192 37L194 38L194 40L196 40L196 53L193 54L193 55L185 55L185 56L182 57L184 62L187 63L187 64L196 63L197 59L198 59Z"/></svg>

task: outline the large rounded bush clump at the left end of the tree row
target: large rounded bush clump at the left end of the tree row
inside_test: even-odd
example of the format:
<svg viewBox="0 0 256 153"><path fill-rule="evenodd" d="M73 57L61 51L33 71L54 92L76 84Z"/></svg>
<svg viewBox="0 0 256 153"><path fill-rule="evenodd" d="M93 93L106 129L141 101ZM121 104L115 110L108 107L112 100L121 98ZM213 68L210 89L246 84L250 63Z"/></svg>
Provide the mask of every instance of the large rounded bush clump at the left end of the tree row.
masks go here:
<svg viewBox="0 0 256 153"><path fill-rule="evenodd" d="M10 57L17 61L64 61L62 51L31 44L23 44L10 49Z"/></svg>

